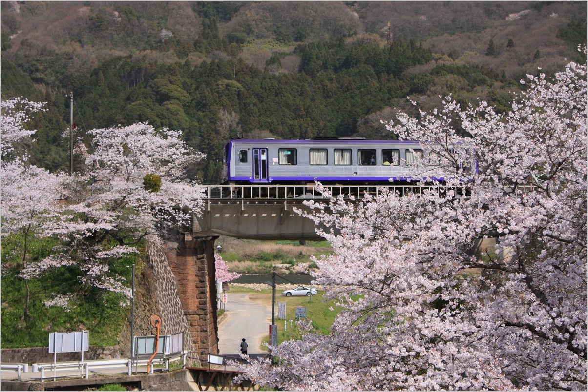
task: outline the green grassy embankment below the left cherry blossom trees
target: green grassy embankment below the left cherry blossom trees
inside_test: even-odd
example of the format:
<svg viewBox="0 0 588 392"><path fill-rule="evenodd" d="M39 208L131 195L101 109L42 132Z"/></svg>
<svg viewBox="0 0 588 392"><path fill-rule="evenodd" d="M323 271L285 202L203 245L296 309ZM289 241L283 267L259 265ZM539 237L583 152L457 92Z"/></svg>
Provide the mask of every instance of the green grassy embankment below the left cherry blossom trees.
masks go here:
<svg viewBox="0 0 588 392"><path fill-rule="evenodd" d="M29 262L39 261L52 254L55 242L48 239L29 241ZM44 273L41 278L29 281L29 318L24 317L25 282L18 276L21 271L22 238L11 234L2 239L2 347L45 347L49 332L66 332L86 329L92 346L118 344L118 336L126 323L129 306L121 306L121 296L104 295L96 288L80 286L75 292L74 307L64 312L59 307L45 306L55 294L66 293L79 272L62 267ZM109 268L130 281L131 268L138 256L113 260ZM101 298L101 300L96 300Z"/></svg>

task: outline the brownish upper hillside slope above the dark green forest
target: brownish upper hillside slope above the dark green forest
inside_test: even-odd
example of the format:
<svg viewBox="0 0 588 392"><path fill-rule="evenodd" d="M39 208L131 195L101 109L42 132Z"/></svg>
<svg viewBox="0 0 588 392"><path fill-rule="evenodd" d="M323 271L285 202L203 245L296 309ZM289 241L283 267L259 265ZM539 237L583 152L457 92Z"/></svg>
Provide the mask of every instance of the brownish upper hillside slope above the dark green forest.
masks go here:
<svg viewBox="0 0 588 392"><path fill-rule="evenodd" d="M245 44L245 52L249 46L243 58L263 67L272 52L296 42L362 33L387 39L390 23L393 40L423 41L433 52L510 77L532 69L537 50L549 68L576 55L557 38L570 22L586 23L586 2L2 2L3 40L9 36L12 46L4 56L32 61L38 72L40 60L51 59L45 67L70 74L123 54L173 61L185 52L198 62L215 51L198 48L211 38ZM486 56L490 39L495 53ZM278 46L252 45L266 40Z"/></svg>

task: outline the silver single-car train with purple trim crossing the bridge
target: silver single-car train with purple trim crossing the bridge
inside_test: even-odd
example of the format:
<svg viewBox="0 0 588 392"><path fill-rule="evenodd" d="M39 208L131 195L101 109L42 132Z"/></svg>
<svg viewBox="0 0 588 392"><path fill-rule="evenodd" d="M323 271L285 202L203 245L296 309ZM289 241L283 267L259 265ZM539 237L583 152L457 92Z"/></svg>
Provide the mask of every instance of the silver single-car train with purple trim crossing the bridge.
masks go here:
<svg viewBox="0 0 588 392"><path fill-rule="evenodd" d="M477 173L469 150L465 173ZM419 141L326 138L230 140L225 144L223 185L392 185L430 178L443 182L455 170L423 166L430 161ZM415 170L415 165L419 165ZM420 178L415 177L415 171ZM467 178L466 178L467 180Z"/></svg>

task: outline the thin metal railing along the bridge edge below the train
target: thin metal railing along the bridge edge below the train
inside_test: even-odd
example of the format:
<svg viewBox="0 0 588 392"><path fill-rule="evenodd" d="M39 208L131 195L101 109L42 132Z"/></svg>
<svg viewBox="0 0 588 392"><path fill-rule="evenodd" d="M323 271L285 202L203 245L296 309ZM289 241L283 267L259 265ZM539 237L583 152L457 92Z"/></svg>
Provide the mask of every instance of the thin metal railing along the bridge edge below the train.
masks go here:
<svg viewBox="0 0 588 392"><path fill-rule="evenodd" d="M282 200L307 200L322 199L323 195L313 186L306 185L205 185L206 198L208 200L248 200L248 199L282 199ZM403 196L406 194L423 194L425 190L432 189L432 185L406 184L406 185L329 185L325 189L332 195L353 196L363 198L366 194L377 196L382 190L392 190ZM450 192L453 195L465 195L466 187L437 187L439 191Z"/></svg>

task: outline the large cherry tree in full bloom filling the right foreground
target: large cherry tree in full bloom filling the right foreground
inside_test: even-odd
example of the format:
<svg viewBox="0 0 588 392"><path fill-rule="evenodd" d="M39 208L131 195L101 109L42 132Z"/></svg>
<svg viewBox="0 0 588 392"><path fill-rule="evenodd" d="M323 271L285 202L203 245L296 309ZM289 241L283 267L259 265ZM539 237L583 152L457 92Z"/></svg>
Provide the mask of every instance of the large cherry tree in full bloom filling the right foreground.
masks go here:
<svg viewBox="0 0 588 392"><path fill-rule="evenodd" d="M316 280L342 310L328 335L305 323L301 340L270 347L277 366L239 365L243 377L285 390L586 390L586 65L524 83L506 114L448 97L387 124L423 141L420 168L453 168L446 184L307 203L334 251ZM476 254L487 238L496 250Z"/></svg>

